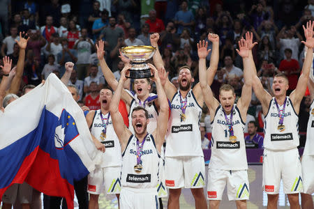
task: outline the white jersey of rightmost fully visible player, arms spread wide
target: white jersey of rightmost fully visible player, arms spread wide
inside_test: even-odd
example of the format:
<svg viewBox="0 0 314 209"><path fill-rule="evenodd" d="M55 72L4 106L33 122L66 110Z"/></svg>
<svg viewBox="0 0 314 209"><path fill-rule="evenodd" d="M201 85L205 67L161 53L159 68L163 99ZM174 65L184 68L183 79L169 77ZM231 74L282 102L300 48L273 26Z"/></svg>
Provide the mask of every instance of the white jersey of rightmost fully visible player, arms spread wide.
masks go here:
<svg viewBox="0 0 314 209"><path fill-rule="evenodd" d="M283 105L279 107L283 109ZM278 110L274 98L269 103L268 113L264 121L264 148L268 150L290 150L299 146L299 117L295 113L289 97L285 104L285 117L283 125L285 130L278 130Z"/></svg>

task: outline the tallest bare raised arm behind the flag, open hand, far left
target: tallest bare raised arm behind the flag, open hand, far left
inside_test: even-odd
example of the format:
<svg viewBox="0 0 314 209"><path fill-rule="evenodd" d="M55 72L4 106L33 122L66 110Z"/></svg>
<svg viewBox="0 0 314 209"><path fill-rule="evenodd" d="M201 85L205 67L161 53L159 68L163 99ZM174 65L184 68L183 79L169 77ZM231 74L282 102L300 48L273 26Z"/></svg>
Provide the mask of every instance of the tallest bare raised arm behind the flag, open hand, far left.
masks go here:
<svg viewBox="0 0 314 209"><path fill-rule="evenodd" d="M15 77L13 78L11 87L9 89L9 93L15 93L17 94L20 85L22 82L22 75L24 71L24 61L25 61L25 49L27 47L27 41L29 40L29 37L27 36L27 33L20 32L20 40L15 40L17 42L17 45L20 47L20 54L19 59L17 60L17 67L15 72Z"/></svg>

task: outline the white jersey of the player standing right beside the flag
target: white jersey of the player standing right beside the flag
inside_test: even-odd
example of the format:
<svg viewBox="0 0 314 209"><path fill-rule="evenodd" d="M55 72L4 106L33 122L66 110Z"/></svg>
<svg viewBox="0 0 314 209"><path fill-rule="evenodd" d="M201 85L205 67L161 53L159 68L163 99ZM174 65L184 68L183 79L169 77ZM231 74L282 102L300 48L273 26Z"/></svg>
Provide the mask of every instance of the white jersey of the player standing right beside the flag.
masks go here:
<svg viewBox="0 0 314 209"><path fill-rule="evenodd" d="M95 116L93 123L91 124L91 134L96 137L102 144L105 144L105 153L103 153L103 162L100 165L104 167L119 167L121 166L121 145L117 137L116 132L114 132L114 127L112 125L111 116L109 117L109 122L107 124L106 138L104 141L100 139L100 134L103 132L103 122L100 117L100 109L95 111ZM103 118L107 118L108 114L103 115ZM107 121L104 121L107 123Z"/></svg>

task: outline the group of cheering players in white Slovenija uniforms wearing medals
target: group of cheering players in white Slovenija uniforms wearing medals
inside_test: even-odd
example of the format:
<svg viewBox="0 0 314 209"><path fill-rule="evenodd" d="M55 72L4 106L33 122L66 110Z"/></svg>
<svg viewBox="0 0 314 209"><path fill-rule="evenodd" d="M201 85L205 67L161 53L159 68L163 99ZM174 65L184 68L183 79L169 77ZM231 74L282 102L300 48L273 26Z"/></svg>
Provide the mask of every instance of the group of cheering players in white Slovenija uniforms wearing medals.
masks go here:
<svg viewBox="0 0 314 209"><path fill-rule="evenodd" d="M167 77L158 51L158 33L151 35L151 45L156 47L156 53L154 65L149 64L149 67L154 75L151 81L156 84L157 95L149 93L149 79L135 79L135 93L125 90L130 65L124 66L118 82L105 62L104 42L100 40L96 45L100 67L114 93L103 88L100 109L89 111L86 116L94 144L103 151L103 164L88 176L89 208L98 208L98 197L104 185L107 194L117 195L120 208L160 208L162 202L158 198L168 195L166 187L169 188L168 208L179 208L182 187L191 189L195 208L207 208L203 190L206 177L209 208L219 208L226 184L228 199L234 200L237 208L246 208L250 189L244 127L252 88L265 116L263 189L268 194L267 208L277 208L281 180L291 208L300 208L300 192L303 192L302 207L313 207L313 103L302 161L297 149L298 114L306 86L311 100L314 98L313 72L310 77L313 26L313 22L304 26L306 56L297 88L289 96L286 95L287 77L281 73L274 77L274 97L264 90L253 61L252 49L257 43L253 42L249 32L241 38L237 53L243 59L244 86L237 103L234 88L228 84L219 90L220 101L211 91L219 59L219 37L216 34L208 35L211 50L208 42L197 43L200 82L192 88L194 78L190 68L184 66L178 72L179 89ZM210 51L207 68L206 57ZM126 103L129 128L119 112L120 100ZM199 128L204 102L209 107L212 125L208 176L205 175Z"/></svg>

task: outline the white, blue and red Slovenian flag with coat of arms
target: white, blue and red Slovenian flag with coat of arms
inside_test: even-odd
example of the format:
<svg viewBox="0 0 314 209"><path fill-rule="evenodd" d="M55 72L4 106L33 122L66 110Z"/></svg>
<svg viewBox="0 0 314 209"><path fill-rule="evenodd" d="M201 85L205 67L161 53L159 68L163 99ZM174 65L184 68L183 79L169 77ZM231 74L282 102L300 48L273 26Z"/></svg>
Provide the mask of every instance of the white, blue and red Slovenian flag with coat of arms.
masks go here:
<svg viewBox="0 0 314 209"><path fill-rule="evenodd" d="M73 180L100 164L82 109L53 73L0 111L0 198L14 183L29 183L73 208Z"/></svg>

